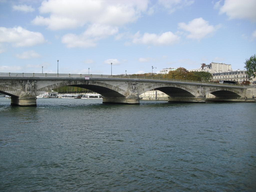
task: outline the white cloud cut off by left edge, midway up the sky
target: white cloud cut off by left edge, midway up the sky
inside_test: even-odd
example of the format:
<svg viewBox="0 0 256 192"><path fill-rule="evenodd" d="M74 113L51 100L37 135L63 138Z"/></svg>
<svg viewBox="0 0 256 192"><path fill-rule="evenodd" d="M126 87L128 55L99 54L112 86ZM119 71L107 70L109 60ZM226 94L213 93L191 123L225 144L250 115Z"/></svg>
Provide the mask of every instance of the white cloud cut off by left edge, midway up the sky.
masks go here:
<svg viewBox="0 0 256 192"><path fill-rule="evenodd" d="M0 42L12 43L14 47L31 47L45 42L39 32L28 31L22 27L0 27Z"/></svg>

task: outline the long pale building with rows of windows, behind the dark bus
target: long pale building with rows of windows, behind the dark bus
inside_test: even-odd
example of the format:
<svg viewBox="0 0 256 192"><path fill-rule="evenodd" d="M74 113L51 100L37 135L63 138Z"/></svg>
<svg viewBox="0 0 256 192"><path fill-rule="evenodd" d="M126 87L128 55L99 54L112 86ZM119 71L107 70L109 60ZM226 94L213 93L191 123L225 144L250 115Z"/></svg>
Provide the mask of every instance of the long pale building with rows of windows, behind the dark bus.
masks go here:
<svg viewBox="0 0 256 192"><path fill-rule="evenodd" d="M243 81L249 81L246 71L241 71L240 69L238 69L237 71L213 73L212 76L214 81L220 79L237 81L240 83Z"/></svg>

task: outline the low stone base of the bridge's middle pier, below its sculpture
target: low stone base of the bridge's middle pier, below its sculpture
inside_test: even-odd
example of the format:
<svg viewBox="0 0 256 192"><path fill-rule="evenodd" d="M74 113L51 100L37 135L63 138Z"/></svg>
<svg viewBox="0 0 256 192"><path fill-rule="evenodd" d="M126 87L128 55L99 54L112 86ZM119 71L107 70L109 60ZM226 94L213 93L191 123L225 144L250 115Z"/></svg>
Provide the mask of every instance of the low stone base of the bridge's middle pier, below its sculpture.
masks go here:
<svg viewBox="0 0 256 192"><path fill-rule="evenodd" d="M128 97L103 97L102 103L139 105L140 98L136 95L129 95Z"/></svg>

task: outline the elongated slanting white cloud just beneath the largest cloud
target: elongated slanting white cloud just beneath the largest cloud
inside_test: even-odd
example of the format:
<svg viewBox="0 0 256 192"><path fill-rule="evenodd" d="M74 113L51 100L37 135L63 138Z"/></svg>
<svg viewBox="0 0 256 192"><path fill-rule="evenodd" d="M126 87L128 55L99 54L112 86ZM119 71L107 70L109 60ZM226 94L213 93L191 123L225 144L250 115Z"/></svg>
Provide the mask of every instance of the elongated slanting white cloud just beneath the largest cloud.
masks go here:
<svg viewBox="0 0 256 192"><path fill-rule="evenodd" d="M96 42L102 38L118 33L118 27L111 27L106 25L93 24L88 27L84 33L80 35L67 34L62 36L61 42L67 44L68 48L82 47L89 48L95 47Z"/></svg>

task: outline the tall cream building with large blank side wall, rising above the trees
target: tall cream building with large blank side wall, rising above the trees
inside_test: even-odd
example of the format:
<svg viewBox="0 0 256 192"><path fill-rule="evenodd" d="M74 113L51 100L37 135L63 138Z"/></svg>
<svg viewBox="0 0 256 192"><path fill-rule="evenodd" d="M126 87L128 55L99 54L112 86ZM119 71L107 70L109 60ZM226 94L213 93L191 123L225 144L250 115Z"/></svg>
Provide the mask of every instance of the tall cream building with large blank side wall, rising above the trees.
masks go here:
<svg viewBox="0 0 256 192"><path fill-rule="evenodd" d="M232 71L232 68L229 64L211 62L209 65L205 65L205 63L201 64L201 67L199 69L190 69L188 71L205 71L209 73L219 73Z"/></svg>

